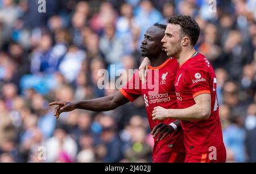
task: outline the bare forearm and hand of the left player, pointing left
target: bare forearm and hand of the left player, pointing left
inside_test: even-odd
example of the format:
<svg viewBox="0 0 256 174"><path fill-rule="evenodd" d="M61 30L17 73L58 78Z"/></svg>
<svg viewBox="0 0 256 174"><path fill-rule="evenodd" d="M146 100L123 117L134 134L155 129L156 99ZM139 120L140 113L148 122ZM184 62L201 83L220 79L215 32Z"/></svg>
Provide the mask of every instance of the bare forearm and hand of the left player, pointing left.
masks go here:
<svg viewBox="0 0 256 174"><path fill-rule="evenodd" d="M55 101L49 105L58 105L55 107L54 116L59 118L60 113L62 112L70 112L75 109L85 109L96 112L110 111L128 102L129 100L126 99L126 97L123 96L120 91L118 91L112 96L101 97L93 100L73 102Z"/></svg>

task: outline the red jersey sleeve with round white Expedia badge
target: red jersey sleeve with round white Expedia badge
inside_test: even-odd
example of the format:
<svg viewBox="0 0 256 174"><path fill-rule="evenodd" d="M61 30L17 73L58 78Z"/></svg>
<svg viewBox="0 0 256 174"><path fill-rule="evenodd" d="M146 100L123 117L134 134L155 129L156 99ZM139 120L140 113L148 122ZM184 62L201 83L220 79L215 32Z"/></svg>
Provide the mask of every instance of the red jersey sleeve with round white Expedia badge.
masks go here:
<svg viewBox="0 0 256 174"><path fill-rule="evenodd" d="M209 87L209 67L207 62L193 62L188 66L185 82L188 85L193 98L200 94L210 94Z"/></svg>

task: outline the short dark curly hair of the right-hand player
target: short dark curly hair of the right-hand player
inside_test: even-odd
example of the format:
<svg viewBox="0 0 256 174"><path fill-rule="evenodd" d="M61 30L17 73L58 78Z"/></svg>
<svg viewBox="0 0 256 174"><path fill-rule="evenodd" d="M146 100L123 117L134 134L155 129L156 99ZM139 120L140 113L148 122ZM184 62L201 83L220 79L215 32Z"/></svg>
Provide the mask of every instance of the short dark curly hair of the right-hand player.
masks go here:
<svg viewBox="0 0 256 174"><path fill-rule="evenodd" d="M181 32L189 37L191 44L196 45L200 35L200 27L191 16L175 15L167 20L170 24L177 24L181 27Z"/></svg>

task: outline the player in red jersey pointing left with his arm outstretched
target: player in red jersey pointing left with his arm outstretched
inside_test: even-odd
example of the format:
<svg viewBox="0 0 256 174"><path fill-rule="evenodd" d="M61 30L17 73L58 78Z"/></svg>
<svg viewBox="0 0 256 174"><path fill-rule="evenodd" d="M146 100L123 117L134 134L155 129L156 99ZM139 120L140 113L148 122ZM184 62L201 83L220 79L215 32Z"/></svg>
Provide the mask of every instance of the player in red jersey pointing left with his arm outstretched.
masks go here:
<svg viewBox="0 0 256 174"><path fill-rule="evenodd" d="M144 35L141 52L142 56L147 56L150 59L147 83L142 84L137 71L129 82L113 96L72 103L55 101L49 104L59 105L55 108L55 117L58 118L61 112L69 112L74 109L109 111L143 96L150 128L151 130L159 128L152 130L155 142L152 156L153 163L184 162L183 131L179 128L175 130L180 127L180 121L172 118L164 121L152 120L154 107L177 108L174 81L179 65L174 58L168 58L162 50L161 40L165 29L166 26L155 24L148 28Z"/></svg>

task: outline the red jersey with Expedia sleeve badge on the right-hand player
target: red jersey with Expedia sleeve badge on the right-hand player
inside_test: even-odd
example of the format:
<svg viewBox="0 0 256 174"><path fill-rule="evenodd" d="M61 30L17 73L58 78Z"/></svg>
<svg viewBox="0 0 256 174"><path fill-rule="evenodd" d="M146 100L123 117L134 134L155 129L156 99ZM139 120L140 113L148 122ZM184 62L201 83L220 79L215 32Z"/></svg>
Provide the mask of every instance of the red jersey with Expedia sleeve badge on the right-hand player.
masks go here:
<svg viewBox="0 0 256 174"><path fill-rule="evenodd" d="M224 148L216 86L213 67L203 54L194 54L192 58L181 64L177 71L175 90L179 109L194 105L194 98L200 94L210 94L212 99L212 109L208 119L181 121L187 154Z"/></svg>

